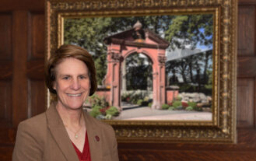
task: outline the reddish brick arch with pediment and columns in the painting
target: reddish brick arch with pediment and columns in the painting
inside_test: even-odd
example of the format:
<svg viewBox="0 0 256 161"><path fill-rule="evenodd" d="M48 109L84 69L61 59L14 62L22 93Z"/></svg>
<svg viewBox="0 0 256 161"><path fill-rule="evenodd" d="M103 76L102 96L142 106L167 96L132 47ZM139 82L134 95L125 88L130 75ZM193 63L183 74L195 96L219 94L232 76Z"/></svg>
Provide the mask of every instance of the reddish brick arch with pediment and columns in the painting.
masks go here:
<svg viewBox="0 0 256 161"><path fill-rule="evenodd" d="M110 37L106 37L107 44L107 75L103 85L110 88L110 105L121 109L121 67L124 58L132 53L146 54L153 61L153 105L160 109L166 102L165 91L165 51L169 43L150 30L142 30L145 39L135 40L135 29L126 30Z"/></svg>

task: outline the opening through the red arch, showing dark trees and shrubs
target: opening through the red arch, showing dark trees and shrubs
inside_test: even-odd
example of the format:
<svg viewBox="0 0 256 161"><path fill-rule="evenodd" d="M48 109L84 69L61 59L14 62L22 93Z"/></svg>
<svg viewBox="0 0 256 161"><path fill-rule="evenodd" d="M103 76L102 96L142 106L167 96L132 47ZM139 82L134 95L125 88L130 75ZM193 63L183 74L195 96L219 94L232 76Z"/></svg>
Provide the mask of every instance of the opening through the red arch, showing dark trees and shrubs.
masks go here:
<svg viewBox="0 0 256 161"><path fill-rule="evenodd" d="M121 107L145 107L153 100L153 61L146 54L129 54L122 63Z"/></svg>

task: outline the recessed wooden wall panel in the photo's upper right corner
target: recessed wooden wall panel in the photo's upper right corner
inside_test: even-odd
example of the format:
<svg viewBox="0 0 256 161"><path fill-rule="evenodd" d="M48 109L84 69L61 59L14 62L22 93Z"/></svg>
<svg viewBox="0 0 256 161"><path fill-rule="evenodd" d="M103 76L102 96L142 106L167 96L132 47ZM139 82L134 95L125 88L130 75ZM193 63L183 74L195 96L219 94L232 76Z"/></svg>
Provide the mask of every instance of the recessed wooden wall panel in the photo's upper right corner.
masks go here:
<svg viewBox="0 0 256 161"><path fill-rule="evenodd" d="M239 56L254 55L255 44L255 6L243 5L238 9L238 43ZM246 19L245 19L246 17Z"/></svg>

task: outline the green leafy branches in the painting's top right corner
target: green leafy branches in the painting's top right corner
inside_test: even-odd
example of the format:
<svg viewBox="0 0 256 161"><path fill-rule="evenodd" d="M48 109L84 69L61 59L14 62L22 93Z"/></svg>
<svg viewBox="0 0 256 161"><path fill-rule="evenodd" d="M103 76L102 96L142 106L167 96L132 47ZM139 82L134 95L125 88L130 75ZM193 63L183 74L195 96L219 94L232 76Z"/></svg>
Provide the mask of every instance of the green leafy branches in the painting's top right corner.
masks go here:
<svg viewBox="0 0 256 161"><path fill-rule="evenodd" d="M191 44L191 48L195 48L198 42L201 45L211 45L212 29L212 14L175 16L168 30L165 31L165 38L173 49L184 48L188 44Z"/></svg>

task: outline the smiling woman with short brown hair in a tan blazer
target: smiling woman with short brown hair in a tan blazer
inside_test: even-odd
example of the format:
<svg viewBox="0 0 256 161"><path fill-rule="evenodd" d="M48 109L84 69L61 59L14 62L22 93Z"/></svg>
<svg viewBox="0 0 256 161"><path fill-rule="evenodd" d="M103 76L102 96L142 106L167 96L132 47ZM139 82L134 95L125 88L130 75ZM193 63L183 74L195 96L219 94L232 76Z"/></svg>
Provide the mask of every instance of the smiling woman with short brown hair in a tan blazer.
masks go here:
<svg viewBox="0 0 256 161"><path fill-rule="evenodd" d="M62 45L47 61L45 73L57 101L19 124L12 160L118 160L113 128L82 110L96 91L92 56L81 47Z"/></svg>

